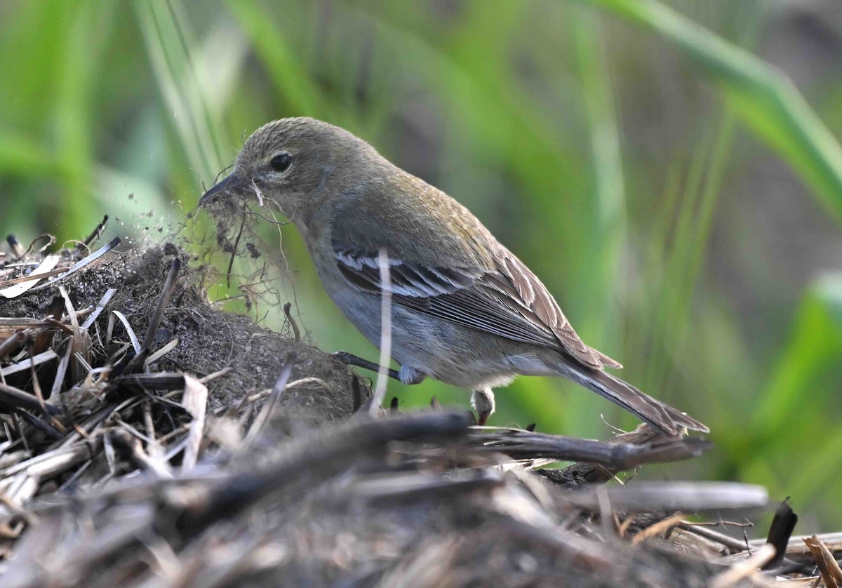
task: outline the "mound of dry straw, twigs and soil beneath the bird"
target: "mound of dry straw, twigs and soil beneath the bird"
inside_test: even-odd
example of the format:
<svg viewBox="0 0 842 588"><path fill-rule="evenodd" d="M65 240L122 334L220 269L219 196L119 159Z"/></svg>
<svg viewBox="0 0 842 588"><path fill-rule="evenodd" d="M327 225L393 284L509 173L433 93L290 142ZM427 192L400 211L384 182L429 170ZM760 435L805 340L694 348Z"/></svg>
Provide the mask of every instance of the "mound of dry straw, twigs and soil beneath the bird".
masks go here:
<svg viewBox="0 0 842 588"><path fill-rule="evenodd" d="M617 484L704 439L372 417L342 362L211 307L184 251L101 232L0 254L4 588L842 581L842 538L786 513L768 542L714 528L762 488Z"/></svg>

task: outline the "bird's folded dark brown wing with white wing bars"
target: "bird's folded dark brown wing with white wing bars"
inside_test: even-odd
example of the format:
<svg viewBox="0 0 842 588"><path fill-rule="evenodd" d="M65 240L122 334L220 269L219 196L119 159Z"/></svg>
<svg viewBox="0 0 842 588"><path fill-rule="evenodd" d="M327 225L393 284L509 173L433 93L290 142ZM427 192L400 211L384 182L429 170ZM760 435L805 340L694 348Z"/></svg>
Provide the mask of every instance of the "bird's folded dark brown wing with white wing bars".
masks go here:
<svg viewBox="0 0 842 588"><path fill-rule="evenodd" d="M379 294L377 252L343 247L335 241L333 245L338 269L349 285ZM585 345L536 275L509 251L500 249L492 269L434 267L390 255L393 301L506 339L560 347L594 369L620 367Z"/></svg>

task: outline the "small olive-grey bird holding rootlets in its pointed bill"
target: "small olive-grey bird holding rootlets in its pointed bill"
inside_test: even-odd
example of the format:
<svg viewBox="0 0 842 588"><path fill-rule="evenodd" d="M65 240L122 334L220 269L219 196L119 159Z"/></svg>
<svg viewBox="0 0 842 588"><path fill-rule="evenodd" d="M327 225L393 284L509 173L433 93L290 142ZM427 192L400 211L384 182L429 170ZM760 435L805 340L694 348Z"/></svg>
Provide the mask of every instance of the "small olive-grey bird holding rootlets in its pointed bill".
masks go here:
<svg viewBox="0 0 842 588"><path fill-rule="evenodd" d="M536 275L476 216L349 131L310 118L270 122L199 205L249 194L295 223L328 295L375 345L384 250L392 358L401 364L393 376L472 390L481 424L494 410L492 388L527 375L567 377L667 435L708 430L606 373L621 365L579 339Z"/></svg>

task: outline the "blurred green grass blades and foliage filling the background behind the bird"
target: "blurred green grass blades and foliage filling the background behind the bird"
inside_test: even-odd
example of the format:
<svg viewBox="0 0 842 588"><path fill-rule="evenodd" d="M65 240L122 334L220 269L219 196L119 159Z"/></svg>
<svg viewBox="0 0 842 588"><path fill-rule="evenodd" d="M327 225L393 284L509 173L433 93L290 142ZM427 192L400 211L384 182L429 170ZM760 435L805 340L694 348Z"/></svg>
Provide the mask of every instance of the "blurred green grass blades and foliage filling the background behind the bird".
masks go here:
<svg viewBox="0 0 842 588"><path fill-rule="evenodd" d="M114 233L162 238L255 128L329 120L475 211L623 377L711 426L717 449L667 475L766 484L821 521L810 530L838 528L839 264L786 243L774 263L757 254L793 206L818 252L840 241L842 72L799 90L754 56L784 4L2 3L0 228L80 238L109 214ZM795 186L783 211L759 187L768 166ZM212 233L199 221L194 242ZM313 344L376 359L295 231L264 228ZM390 393L467 404L437 382ZM635 425L584 389L521 378L494 420L605 437L600 414Z"/></svg>

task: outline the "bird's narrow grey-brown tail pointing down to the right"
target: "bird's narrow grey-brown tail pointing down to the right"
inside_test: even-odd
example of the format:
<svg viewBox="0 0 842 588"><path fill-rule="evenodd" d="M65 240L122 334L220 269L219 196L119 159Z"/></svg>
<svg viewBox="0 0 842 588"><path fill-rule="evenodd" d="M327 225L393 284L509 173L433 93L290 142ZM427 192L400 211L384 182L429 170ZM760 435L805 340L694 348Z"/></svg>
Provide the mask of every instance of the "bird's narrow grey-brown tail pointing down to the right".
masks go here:
<svg viewBox="0 0 842 588"><path fill-rule="evenodd" d="M692 430L700 430L703 433L709 429L698 420L674 409L669 404L642 393L628 382L623 382L619 377L611 376L601 370L592 370L585 366L573 365L567 361L558 366L562 375L582 384L585 388L593 390L611 402L619 404L630 413L636 415L644 422L652 425L655 429L665 435L678 435L683 427Z"/></svg>

